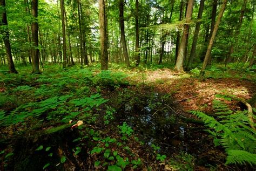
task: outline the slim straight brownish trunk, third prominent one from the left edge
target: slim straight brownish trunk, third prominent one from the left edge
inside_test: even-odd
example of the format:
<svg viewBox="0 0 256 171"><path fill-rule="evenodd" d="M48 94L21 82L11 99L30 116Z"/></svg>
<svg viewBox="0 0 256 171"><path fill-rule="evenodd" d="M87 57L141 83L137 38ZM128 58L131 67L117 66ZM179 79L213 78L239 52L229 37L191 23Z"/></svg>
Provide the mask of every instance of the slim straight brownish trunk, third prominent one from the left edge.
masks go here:
<svg viewBox="0 0 256 171"><path fill-rule="evenodd" d="M65 28L65 10L64 0L60 0L60 11L62 13L62 38L63 38L63 68L66 67L66 28Z"/></svg>

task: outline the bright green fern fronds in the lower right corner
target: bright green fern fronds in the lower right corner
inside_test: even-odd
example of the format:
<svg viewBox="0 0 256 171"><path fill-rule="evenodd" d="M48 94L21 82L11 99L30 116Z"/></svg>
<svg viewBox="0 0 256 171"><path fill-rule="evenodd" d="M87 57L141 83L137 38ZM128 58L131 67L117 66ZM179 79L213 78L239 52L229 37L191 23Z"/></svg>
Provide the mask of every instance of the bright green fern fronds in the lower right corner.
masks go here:
<svg viewBox="0 0 256 171"><path fill-rule="evenodd" d="M220 100L214 100L213 107L219 115L217 118L199 111L191 111L191 113L197 115L210 127L206 131L213 135L214 145L225 148L228 155L226 164L256 165L256 131L250 127L248 111L232 112ZM253 117L255 118L254 115Z"/></svg>

